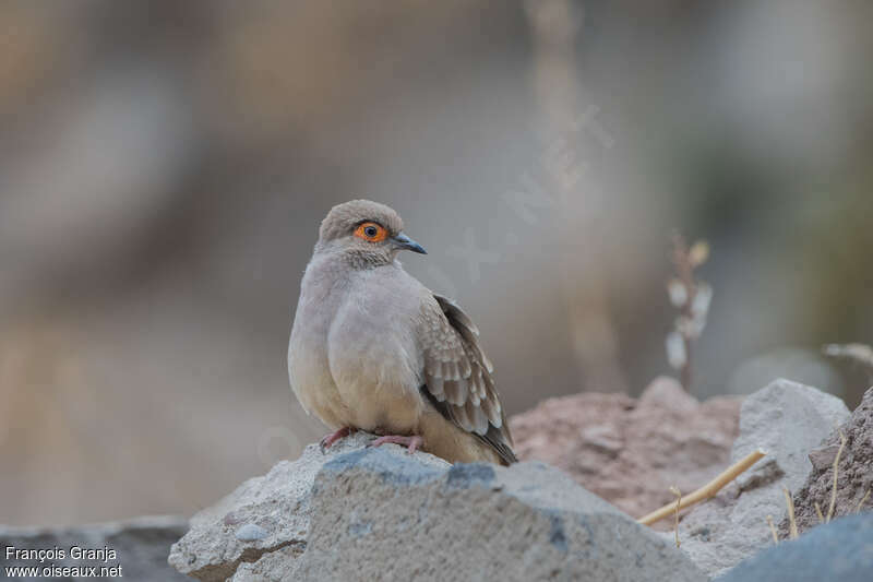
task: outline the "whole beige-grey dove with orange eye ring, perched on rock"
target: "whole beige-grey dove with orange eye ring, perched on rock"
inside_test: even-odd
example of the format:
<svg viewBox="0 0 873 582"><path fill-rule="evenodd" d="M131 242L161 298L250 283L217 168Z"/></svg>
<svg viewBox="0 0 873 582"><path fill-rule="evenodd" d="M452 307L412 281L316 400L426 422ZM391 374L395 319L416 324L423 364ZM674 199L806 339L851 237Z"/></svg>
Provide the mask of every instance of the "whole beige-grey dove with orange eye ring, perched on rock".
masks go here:
<svg viewBox="0 0 873 582"><path fill-rule="evenodd" d="M335 430L323 446L363 429L453 463L515 462L476 325L403 270L404 249L424 252L383 204L324 218L288 346L297 399Z"/></svg>

